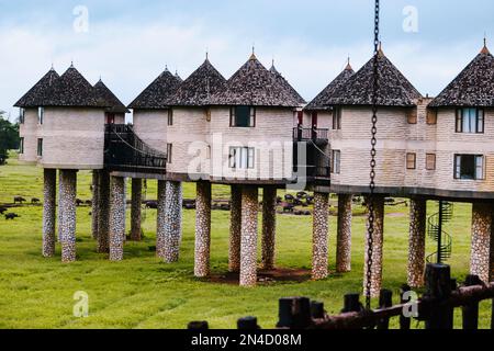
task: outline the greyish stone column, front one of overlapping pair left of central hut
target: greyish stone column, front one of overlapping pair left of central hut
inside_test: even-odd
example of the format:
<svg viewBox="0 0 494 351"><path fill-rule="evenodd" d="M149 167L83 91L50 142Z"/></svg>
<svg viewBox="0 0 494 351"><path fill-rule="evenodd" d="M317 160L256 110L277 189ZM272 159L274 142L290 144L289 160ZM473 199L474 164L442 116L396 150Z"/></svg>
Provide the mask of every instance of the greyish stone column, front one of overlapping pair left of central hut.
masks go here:
<svg viewBox="0 0 494 351"><path fill-rule="evenodd" d="M165 200L165 262L179 260L182 238L182 184L167 181Z"/></svg>

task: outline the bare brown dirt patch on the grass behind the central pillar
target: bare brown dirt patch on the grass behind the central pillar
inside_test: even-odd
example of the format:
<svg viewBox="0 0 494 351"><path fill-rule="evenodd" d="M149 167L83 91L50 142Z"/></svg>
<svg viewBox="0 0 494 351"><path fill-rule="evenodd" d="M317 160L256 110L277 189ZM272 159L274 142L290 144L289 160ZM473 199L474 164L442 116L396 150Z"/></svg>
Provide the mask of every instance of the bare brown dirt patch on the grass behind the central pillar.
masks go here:
<svg viewBox="0 0 494 351"><path fill-rule="evenodd" d="M302 283L311 280L310 270L296 269L276 269L260 270L257 272L257 282L259 285L268 285L277 282L295 282ZM212 274L206 281L218 284L238 285L238 273Z"/></svg>

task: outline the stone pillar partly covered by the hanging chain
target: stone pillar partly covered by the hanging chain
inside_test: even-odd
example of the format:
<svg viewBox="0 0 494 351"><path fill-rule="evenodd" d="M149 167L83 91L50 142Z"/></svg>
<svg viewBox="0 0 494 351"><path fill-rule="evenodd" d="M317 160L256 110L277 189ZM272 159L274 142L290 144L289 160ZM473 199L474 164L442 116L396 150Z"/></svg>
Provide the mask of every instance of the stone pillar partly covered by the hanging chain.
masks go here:
<svg viewBox="0 0 494 351"><path fill-rule="evenodd" d="M369 203L369 199L367 200ZM378 297L381 292L382 285L382 246L383 246L383 233L384 233L384 196L374 195L374 233L373 233L373 245L372 245L372 267L371 267L371 288L370 293L372 297ZM367 223L367 228L369 228L369 217ZM363 293L367 295L367 272L368 272L368 240L369 230L366 230L366 257L363 267Z"/></svg>

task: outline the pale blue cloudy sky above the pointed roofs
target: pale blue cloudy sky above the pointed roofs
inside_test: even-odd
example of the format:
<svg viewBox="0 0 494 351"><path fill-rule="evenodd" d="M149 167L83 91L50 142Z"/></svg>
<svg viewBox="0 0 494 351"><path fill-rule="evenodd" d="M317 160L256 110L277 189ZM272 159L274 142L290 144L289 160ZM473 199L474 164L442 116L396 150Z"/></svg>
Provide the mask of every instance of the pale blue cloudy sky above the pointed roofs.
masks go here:
<svg viewBox="0 0 494 351"><path fill-rule="evenodd" d="M128 104L166 67L187 78L204 60L229 78L250 56L307 101L346 66L372 56L372 0L0 0L0 110L54 65L74 61ZM385 55L424 94L437 95L494 43L492 0L381 0ZM492 41L491 41L492 38ZM494 49L494 44L492 44Z"/></svg>

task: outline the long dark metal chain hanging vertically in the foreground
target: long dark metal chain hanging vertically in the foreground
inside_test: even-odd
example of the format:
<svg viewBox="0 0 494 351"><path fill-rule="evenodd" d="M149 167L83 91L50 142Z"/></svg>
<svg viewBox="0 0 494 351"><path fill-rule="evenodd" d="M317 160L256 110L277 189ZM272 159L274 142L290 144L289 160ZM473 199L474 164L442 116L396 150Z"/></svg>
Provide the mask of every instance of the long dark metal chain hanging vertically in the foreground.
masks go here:
<svg viewBox="0 0 494 351"><path fill-rule="evenodd" d="M371 161L370 161L370 195L368 200L369 211L369 230L368 230L368 251L367 251L367 282L366 282L366 307L371 308L371 290L372 290L372 265L373 265L373 245L375 233L375 213L374 213L374 192L375 192L375 157L378 144L378 92L379 92L379 13L380 3L375 0L374 12L374 58L373 58L373 86L372 86L372 139L371 139Z"/></svg>

